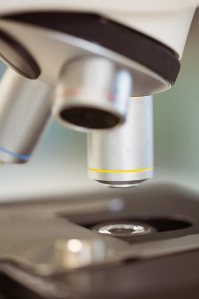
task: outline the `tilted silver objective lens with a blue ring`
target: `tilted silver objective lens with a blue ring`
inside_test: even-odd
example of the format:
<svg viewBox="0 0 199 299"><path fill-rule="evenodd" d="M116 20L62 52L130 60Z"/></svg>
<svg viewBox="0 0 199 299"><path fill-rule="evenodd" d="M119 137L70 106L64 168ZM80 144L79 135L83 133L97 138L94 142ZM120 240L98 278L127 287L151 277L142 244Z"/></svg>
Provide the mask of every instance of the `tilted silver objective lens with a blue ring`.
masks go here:
<svg viewBox="0 0 199 299"><path fill-rule="evenodd" d="M50 115L52 87L7 69L0 81L0 163L25 163Z"/></svg>

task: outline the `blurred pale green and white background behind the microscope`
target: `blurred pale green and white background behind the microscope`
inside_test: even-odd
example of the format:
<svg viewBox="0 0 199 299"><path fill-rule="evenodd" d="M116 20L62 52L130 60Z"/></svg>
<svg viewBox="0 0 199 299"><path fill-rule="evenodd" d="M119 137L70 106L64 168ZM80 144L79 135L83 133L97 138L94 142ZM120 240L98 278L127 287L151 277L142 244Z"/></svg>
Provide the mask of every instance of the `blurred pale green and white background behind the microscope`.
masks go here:
<svg viewBox="0 0 199 299"><path fill-rule="evenodd" d="M199 192L199 10L175 86L154 96L155 175ZM0 76L5 71L0 63ZM0 201L56 198L105 187L87 178L87 136L52 120L30 162L0 166ZM112 190L109 189L109 192Z"/></svg>

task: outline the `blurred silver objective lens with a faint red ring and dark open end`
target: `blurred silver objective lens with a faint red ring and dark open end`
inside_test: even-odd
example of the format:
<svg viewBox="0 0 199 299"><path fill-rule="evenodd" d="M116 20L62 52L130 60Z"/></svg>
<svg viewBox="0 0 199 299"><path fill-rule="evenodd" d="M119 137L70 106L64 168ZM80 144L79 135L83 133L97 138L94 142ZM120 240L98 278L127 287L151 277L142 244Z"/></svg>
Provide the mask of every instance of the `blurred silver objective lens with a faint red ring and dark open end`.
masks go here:
<svg viewBox="0 0 199 299"><path fill-rule="evenodd" d="M53 114L78 131L105 130L123 124L132 77L102 57L81 57L67 63L55 89Z"/></svg>

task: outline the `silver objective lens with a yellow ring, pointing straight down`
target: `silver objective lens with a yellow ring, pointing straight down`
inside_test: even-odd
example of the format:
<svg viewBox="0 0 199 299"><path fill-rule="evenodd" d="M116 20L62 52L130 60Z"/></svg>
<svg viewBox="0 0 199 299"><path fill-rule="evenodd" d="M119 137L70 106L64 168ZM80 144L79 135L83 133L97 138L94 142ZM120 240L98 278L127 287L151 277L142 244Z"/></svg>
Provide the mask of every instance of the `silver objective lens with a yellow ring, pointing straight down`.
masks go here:
<svg viewBox="0 0 199 299"><path fill-rule="evenodd" d="M130 98L125 124L88 134L89 178L115 188L153 177L153 97Z"/></svg>

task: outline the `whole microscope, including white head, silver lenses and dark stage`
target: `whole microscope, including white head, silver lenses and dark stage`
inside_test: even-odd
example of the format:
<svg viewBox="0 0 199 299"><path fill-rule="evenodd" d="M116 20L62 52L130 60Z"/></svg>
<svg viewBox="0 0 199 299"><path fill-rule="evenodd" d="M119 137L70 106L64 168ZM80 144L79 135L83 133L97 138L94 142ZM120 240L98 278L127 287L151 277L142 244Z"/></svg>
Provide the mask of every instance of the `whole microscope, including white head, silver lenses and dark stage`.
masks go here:
<svg viewBox="0 0 199 299"><path fill-rule="evenodd" d="M177 80L198 4L0 2L0 163L28 162L53 116L87 134L88 177L114 188L94 213L1 206L0 299L197 298L197 195L130 187L153 177L153 95Z"/></svg>

